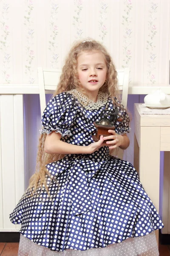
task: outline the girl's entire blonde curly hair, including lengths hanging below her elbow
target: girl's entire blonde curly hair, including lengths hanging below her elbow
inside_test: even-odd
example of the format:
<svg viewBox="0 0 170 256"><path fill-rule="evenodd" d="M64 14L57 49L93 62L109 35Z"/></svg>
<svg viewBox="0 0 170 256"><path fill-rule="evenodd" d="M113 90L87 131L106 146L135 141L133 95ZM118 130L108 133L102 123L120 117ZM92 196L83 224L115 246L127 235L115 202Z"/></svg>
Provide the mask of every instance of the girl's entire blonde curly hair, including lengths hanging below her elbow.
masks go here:
<svg viewBox="0 0 170 256"><path fill-rule="evenodd" d="M77 89L81 90L84 94L87 95L85 90L82 88L78 73L77 73L77 57L81 52L92 52L99 51L105 57L105 62L107 66L107 80L99 89L102 93L107 93L108 96L112 98L114 96L119 98L119 89L118 89L118 80L117 80L117 72L115 65L111 59L111 56L105 49L105 47L95 41L95 40L86 40L76 42L68 53L67 58L65 59L65 65L62 68L62 74L60 76L59 84L57 85L57 89L54 92L53 96L56 96L59 93ZM113 98L114 99L114 98ZM50 197L48 186L47 186L47 177L50 177L49 172L45 168L47 163L51 163L53 161L57 161L64 157L64 155L60 154L47 154L44 151L44 143L45 143L46 134L41 134L39 139L38 153L37 153L37 165L36 172L32 175L28 189L31 191L31 195L37 194L37 189L45 187L48 195ZM51 181L52 178L50 177ZM56 181L56 180L54 180ZM50 197L51 198L51 197Z"/></svg>

